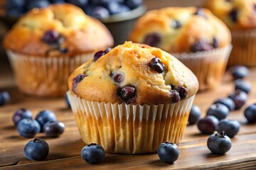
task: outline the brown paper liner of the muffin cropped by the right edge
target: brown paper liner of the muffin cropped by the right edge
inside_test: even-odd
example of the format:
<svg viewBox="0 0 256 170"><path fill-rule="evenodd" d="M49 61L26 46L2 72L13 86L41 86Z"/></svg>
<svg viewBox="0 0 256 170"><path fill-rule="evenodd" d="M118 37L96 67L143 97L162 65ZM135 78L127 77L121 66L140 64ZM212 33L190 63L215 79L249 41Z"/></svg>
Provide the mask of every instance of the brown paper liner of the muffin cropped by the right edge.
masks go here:
<svg viewBox="0 0 256 170"><path fill-rule="evenodd" d="M233 50L228 65L256 66L256 29L231 30Z"/></svg>

